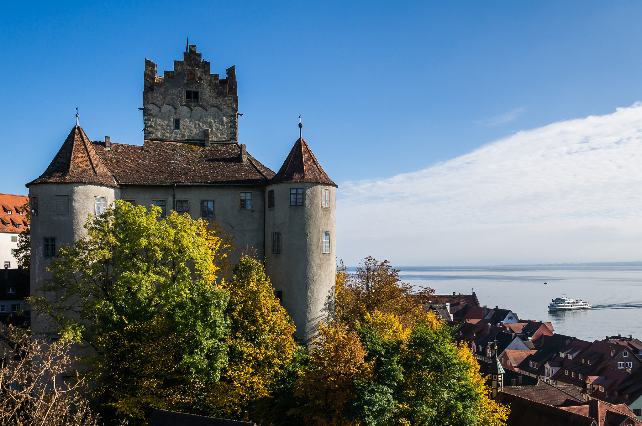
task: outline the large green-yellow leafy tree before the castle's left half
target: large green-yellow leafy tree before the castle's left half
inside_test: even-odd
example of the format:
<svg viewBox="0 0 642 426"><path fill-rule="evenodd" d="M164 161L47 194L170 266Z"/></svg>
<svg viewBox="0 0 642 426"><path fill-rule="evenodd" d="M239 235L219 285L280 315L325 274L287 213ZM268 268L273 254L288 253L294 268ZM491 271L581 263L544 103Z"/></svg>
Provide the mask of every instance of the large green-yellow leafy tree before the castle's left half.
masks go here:
<svg viewBox="0 0 642 426"><path fill-rule="evenodd" d="M142 421L166 388L183 392L171 407L193 401L195 384L216 382L227 364L229 293L214 263L225 239L201 220L123 201L85 228L49 264L32 312L85 346L95 399L114 415Z"/></svg>

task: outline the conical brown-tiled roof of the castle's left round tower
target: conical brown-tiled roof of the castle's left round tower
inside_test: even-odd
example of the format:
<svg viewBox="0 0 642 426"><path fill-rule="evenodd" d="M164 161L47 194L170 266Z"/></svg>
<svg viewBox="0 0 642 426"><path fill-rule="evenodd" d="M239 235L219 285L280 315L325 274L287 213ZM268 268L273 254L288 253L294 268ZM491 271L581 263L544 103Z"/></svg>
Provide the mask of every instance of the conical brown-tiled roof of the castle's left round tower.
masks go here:
<svg viewBox="0 0 642 426"><path fill-rule="evenodd" d="M82 127L74 126L49 167L36 180L27 183L97 183L117 187L114 176L98 157Z"/></svg>

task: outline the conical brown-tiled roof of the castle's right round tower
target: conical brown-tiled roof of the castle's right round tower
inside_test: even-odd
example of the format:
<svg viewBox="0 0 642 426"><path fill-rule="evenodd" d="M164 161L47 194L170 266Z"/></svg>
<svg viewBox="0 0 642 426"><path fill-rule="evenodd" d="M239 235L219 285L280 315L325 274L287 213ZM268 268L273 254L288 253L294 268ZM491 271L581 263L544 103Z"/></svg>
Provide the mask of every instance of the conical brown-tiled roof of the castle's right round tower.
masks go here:
<svg viewBox="0 0 642 426"><path fill-rule="evenodd" d="M302 137L295 142L279 173L270 181L280 182L314 182L338 186L325 174L317 157Z"/></svg>

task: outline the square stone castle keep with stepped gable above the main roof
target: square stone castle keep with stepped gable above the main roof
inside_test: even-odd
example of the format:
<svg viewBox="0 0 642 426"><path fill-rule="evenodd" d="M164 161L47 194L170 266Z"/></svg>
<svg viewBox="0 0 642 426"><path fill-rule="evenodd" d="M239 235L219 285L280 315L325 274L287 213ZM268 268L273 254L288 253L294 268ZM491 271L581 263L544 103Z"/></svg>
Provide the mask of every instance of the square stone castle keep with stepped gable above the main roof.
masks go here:
<svg viewBox="0 0 642 426"><path fill-rule="evenodd" d="M234 65L227 78L209 73L196 46L189 45L174 71L156 75L156 64L145 60L144 139L237 143L238 96Z"/></svg>

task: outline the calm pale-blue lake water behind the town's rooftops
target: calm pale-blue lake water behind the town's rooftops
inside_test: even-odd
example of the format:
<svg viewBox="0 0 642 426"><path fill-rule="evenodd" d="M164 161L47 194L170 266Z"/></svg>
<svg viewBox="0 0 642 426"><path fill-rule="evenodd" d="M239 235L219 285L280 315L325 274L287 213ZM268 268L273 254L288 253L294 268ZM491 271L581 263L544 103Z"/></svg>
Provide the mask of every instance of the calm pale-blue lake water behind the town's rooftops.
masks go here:
<svg viewBox="0 0 642 426"><path fill-rule="evenodd" d="M642 339L640 266L399 269L404 282L431 287L435 294L471 294L474 289L480 304L511 309L519 319L550 321L556 333L587 341L618 333ZM549 312L548 303L562 294L588 301L593 309Z"/></svg>

